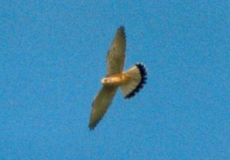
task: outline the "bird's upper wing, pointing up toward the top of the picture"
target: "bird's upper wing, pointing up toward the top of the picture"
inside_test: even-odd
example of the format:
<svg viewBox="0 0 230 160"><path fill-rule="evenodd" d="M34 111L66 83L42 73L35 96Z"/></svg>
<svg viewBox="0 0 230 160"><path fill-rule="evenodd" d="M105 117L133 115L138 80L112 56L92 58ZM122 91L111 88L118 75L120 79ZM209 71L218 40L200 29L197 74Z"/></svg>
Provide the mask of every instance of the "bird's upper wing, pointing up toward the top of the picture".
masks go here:
<svg viewBox="0 0 230 160"><path fill-rule="evenodd" d="M125 63L126 36L121 26L111 44L107 55L107 76L122 73Z"/></svg>

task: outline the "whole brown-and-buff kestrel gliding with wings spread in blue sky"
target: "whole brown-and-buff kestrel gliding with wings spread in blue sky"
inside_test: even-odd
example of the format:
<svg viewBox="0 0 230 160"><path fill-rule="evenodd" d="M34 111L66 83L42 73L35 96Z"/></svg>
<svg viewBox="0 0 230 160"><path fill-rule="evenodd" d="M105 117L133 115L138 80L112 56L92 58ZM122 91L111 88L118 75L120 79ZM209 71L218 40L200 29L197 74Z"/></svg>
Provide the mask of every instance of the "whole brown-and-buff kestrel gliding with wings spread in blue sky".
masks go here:
<svg viewBox="0 0 230 160"><path fill-rule="evenodd" d="M127 71L123 71L125 62L126 35L124 27L118 28L115 38L107 54L107 75L101 79L102 88L92 104L89 128L94 129L108 110L117 89L120 87L124 98L131 98L147 80L146 68L136 63Z"/></svg>

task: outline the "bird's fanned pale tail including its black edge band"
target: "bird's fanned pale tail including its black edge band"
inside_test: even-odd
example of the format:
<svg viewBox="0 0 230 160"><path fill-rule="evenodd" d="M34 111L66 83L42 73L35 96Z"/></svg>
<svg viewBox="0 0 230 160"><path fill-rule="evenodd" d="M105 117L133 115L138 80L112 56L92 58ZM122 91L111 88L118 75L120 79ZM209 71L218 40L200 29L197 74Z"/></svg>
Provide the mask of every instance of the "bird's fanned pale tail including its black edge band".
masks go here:
<svg viewBox="0 0 230 160"><path fill-rule="evenodd" d="M121 85L124 98L131 98L143 88L147 80L147 70L142 63L136 63L125 74L130 77L128 83Z"/></svg>

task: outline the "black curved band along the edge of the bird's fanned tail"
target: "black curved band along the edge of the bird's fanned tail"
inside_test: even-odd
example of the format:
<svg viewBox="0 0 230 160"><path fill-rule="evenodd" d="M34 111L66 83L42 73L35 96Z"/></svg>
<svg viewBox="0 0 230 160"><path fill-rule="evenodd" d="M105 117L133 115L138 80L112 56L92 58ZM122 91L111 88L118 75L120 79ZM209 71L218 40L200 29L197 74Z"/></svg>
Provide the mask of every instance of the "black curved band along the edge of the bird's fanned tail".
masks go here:
<svg viewBox="0 0 230 160"><path fill-rule="evenodd" d="M144 84L146 84L146 81L147 81L147 69L145 65L142 63L136 63L135 65L140 70L141 81L138 84L138 86L130 94L128 94L125 98L132 98L133 96L135 96L135 94L138 93L143 88Z"/></svg>

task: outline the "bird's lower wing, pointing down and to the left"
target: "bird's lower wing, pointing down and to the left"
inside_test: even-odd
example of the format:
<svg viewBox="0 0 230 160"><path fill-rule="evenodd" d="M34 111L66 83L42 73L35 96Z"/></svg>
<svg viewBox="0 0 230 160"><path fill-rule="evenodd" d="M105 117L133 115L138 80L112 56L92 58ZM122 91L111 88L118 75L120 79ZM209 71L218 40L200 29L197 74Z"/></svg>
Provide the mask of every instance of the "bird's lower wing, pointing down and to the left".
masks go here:
<svg viewBox="0 0 230 160"><path fill-rule="evenodd" d="M94 129L109 108L117 87L103 86L93 101L89 128Z"/></svg>

